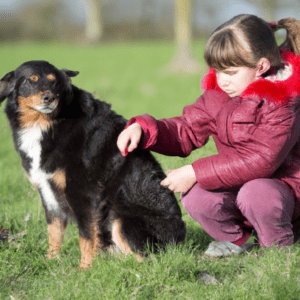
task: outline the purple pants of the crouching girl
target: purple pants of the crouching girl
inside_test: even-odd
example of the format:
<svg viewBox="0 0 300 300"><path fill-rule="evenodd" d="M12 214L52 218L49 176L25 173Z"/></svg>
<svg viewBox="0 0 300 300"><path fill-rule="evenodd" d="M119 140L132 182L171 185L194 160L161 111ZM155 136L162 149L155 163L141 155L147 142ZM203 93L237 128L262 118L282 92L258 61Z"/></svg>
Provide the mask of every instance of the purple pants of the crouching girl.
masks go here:
<svg viewBox="0 0 300 300"><path fill-rule="evenodd" d="M292 225L300 215L299 204L295 205L288 185L276 179L255 179L237 191L207 191L195 184L181 196L181 202L187 213L220 242L243 240L246 232L248 238L251 225L263 246L291 245L299 238L299 226Z"/></svg>

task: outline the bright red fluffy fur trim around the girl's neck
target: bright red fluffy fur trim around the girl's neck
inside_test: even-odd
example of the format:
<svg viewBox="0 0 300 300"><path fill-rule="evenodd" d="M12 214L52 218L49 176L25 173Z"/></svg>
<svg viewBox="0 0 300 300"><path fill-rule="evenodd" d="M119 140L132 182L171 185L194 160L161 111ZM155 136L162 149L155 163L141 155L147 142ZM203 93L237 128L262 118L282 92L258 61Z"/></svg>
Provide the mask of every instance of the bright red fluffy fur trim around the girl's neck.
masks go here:
<svg viewBox="0 0 300 300"><path fill-rule="evenodd" d="M260 78L251 83L240 95L241 98L257 95L275 104L285 104L290 98L300 94L300 56L281 50L282 60L292 66L292 74L286 80L274 82ZM210 69L201 81L203 91L218 90L225 93L217 83L216 71Z"/></svg>

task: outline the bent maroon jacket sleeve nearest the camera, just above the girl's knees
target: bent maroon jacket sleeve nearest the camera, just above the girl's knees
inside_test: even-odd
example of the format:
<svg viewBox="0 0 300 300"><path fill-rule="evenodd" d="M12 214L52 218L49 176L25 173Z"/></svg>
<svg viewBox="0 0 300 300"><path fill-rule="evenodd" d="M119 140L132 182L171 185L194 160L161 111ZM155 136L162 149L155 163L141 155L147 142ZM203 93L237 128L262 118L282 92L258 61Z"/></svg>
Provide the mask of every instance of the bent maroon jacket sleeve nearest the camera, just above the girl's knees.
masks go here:
<svg viewBox="0 0 300 300"><path fill-rule="evenodd" d="M244 99L228 115L226 151L192 164L199 185L207 190L232 188L271 177L299 140L295 107Z"/></svg>

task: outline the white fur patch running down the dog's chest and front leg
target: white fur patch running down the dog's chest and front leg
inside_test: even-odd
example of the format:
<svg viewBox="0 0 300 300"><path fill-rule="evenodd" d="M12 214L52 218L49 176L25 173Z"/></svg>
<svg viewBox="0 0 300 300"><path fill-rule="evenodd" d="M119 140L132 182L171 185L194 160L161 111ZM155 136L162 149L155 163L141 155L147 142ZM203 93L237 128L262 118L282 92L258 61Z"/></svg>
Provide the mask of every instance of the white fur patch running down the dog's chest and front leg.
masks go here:
<svg viewBox="0 0 300 300"><path fill-rule="evenodd" d="M40 127L22 129L19 132L20 149L32 159L29 169L30 180L39 188L47 209L54 212L60 209L49 183L53 174L41 169L42 139L43 130Z"/></svg>

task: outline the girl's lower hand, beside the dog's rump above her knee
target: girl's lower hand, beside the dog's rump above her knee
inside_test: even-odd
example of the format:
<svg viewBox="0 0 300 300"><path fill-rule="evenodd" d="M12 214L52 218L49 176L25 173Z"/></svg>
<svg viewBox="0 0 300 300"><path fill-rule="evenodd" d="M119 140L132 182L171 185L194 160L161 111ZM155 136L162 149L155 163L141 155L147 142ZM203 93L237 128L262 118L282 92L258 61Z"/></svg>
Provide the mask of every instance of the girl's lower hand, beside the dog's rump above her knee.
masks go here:
<svg viewBox="0 0 300 300"><path fill-rule="evenodd" d="M187 165L168 171L167 178L160 184L167 186L174 193L185 194L196 182L196 174L192 165Z"/></svg>

